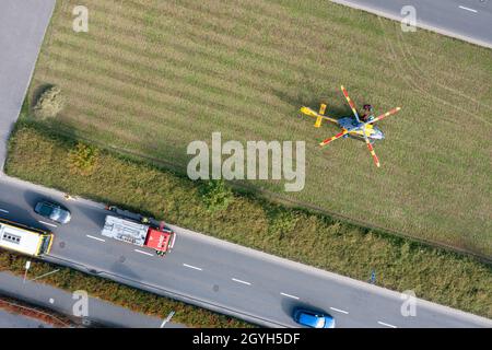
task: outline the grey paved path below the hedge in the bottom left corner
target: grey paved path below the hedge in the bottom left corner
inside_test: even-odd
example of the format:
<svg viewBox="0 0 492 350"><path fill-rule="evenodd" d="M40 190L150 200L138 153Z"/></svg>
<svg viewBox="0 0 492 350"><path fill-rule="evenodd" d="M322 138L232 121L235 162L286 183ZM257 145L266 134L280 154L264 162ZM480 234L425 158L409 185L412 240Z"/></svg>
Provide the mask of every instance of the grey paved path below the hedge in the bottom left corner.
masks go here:
<svg viewBox="0 0 492 350"><path fill-rule="evenodd" d="M34 262L33 262L34 264ZM55 270L54 270L55 271ZM56 272L55 272L56 273ZM37 279L37 280L36 280ZM30 304L43 306L47 310L56 311L71 318L80 318L74 315L74 306L79 302L79 296L73 298L72 293L40 283L43 276L32 276L27 273L26 281L22 277L8 272L0 272L0 294L22 300ZM75 307L75 312L77 312ZM89 298L87 315L82 317L86 326L104 325L106 327L125 328L181 328L183 325L172 322L164 323L163 318L152 317L129 311L128 308L114 305L112 303ZM0 316L0 328L2 327ZM30 327L30 319L17 319L25 327ZM33 320L31 320L32 323ZM16 324L16 323L15 323Z"/></svg>

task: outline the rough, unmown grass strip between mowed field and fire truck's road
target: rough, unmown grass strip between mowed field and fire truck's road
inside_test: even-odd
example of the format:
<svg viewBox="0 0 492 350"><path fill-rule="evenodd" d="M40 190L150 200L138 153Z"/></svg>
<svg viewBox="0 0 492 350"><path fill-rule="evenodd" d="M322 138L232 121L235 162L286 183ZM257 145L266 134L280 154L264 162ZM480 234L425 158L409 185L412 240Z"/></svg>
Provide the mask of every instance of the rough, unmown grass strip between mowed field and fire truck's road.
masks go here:
<svg viewBox="0 0 492 350"><path fill-rule="evenodd" d="M91 172L78 173L70 155L78 142L52 132L44 124L20 121L11 138L7 173L359 280L367 281L374 270L378 285L413 290L419 298L492 317L490 265L251 195L236 192L226 209L210 211L202 198L203 184L104 150L96 153ZM59 283L63 278L72 283L71 276L79 275L67 270ZM93 281L103 298L112 295L104 292L104 283L109 290L129 290L99 279L86 281ZM84 283L89 288L92 282ZM157 298L131 293L160 303ZM122 298L117 301L132 304Z"/></svg>

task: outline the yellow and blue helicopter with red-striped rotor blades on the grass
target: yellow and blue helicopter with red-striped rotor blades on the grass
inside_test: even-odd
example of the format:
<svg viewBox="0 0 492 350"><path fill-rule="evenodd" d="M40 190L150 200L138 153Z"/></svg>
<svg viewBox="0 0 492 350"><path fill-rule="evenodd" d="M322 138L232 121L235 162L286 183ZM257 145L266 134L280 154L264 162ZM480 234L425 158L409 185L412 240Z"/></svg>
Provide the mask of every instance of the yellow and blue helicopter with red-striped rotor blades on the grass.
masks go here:
<svg viewBox="0 0 492 350"><path fill-rule="evenodd" d="M386 118L390 115L398 113L401 109L401 107L393 108L379 115L378 117L374 117L373 107L371 105L364 105L364 114L361 118L355 108L355 104L350 98L349 93L347 92L345 88L343 88L343 85L341 86L341 91L343 93L343 96L345 96L345 100L349 103L350 108L352 109L353 117L350 116L336 119L326 116L325 115L326 104L320 105L319 112L315 112L309 107L301 107L301 113L306 116L316 118L314 125L316 128L319 128L321 126L323 120L327 120L329 122L338 125L342 129L342 131L337 133L336 136L323 140L319 143L319 145L324 147L337 139L348 137L365 141L365 143L367 144L367 149L371 152L371 155L373 156L374 163L376 164L377 167L379 167L380 163L379 160L377 159L376 153L374 152L373 143L376 142L377 140L383 140L385 138L385 135L374 124L376 121L382 120L383 118Z"/></svg>

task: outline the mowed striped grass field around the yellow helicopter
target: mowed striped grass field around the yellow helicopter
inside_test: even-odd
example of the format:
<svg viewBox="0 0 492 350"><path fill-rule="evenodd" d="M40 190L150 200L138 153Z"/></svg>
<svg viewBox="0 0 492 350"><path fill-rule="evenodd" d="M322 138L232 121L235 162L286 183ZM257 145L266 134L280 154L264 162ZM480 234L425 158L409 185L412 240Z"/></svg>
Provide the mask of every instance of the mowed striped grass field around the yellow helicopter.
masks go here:
<svg viewBox="0 0 492 350"><path fill-rule="evenodd" d="M72 10L89 9L89 33ZM75 138L186 171L194 140L305 140L306 185L258 189L328 212L484 256L492 255L490 49L325 0L63 0L30 91L61 86L52 122ZM318 142L298 108L350 115L340 92L376 113L374 166L363 142Z"/></svg>

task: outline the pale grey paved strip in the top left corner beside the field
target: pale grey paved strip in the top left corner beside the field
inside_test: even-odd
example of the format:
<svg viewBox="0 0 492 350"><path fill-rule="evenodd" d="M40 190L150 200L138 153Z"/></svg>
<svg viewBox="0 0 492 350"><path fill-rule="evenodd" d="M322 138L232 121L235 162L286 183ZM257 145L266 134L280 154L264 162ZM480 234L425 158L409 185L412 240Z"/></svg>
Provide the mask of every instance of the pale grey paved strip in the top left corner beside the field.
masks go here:
<svg viewBox="0 0 492 350"><path fill-rule="evenodd" d="M0 1L0 171L55 0Z"/></svg>

